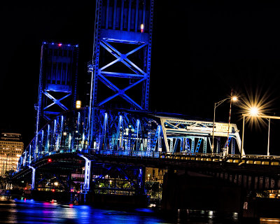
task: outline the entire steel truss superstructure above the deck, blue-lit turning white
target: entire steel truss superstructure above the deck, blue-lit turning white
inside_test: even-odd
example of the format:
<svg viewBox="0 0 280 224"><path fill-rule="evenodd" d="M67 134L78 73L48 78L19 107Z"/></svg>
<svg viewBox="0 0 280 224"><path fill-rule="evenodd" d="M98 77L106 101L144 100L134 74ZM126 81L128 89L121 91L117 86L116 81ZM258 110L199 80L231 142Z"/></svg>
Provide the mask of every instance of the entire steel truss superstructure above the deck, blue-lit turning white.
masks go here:
<svg viewBox="0 0 280 224"><path fill-rule="evenodd" d="M45 125L25 148L18 162L23 167L58 153L118 152L126 155L158 157L161 153L211 153L213 123L191 120L181 115L120 109L96 109L93 147L88 144L87 109L62 113ZM226 123L215 124L215 153L223 153L228 134ZM240 153L239 131L230 125L230 154Z"/></svg>

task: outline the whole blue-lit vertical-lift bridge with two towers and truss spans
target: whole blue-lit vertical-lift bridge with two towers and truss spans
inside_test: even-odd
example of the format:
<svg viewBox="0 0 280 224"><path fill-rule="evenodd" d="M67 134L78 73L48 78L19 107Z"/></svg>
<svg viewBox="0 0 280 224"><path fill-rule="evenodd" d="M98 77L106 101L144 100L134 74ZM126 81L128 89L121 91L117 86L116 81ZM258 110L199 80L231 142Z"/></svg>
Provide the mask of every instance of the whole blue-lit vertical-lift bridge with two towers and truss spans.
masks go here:
<svg viewBox="0 0 280 224"><path fill-rule="evenodd" d="M74 109L78 45L43 42L35 137L14 180L29 180L31 190L55 190L56 179L68 192L144 195L145 167L157 167L246 190L280 188L280 158L246 155L237 125L148 111L153 6L96 1L89 99L81 108Z"/></svg>

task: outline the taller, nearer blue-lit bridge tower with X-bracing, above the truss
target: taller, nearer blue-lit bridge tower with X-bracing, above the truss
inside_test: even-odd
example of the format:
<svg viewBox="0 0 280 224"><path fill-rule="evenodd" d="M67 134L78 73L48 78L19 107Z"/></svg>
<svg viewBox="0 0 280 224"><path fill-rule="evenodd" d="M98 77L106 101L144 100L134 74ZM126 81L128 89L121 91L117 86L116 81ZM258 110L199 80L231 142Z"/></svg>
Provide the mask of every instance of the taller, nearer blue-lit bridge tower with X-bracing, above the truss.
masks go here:
<svg viewBox="0 0 280 224"><path fill-rule="evenodd" d="M153 4L153 0L96 0L89 66L90 138L94 136L94 108L148 111Z"/></svg>

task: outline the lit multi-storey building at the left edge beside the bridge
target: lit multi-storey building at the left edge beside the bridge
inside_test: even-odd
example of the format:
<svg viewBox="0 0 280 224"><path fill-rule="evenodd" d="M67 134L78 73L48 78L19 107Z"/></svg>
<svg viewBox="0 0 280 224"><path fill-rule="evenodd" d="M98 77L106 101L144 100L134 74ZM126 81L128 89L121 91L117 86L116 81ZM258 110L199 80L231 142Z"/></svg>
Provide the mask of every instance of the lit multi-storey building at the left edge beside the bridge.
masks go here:
<svg viewBox="0 0 280 224"><path fill-rule="evenodd" d="M17 168L23 152L21 134L1 133L0 137L0 176Z"/></svg>

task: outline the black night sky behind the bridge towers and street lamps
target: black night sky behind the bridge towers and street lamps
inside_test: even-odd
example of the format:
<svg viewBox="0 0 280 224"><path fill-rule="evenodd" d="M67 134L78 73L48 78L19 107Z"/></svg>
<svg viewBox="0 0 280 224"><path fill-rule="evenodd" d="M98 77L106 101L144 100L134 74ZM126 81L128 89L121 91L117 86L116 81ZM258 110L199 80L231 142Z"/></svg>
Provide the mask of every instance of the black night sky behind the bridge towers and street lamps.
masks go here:
<svg viewBox="0 0 280 224"><path fill-rule="evenodd" d="M240 99L268 96L266 113L280 116L278 2L155 0L151 111L211 120L214 102L233 88ZM1 3L1 131L21 133L26 145L34 136L42 41L78 44L79 80L87 76L94 6L94 0ZM219 106L217 120L228 121L228 111L229 104ZM232 122L242 129L239 105L232 106ZM272 122L274 154L279 125ZM245 150L265 152L267 127L246 125L245 134Z"/></svg>

